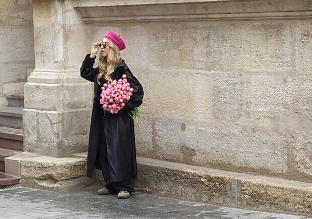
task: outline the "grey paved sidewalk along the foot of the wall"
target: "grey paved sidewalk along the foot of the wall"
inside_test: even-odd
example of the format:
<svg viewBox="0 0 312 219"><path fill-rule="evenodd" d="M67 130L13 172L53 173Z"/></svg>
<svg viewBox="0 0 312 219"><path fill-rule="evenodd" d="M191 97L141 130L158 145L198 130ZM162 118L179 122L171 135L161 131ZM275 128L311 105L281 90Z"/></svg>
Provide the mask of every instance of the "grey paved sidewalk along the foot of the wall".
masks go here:
<svg viewBox="0 0 312 219"><path fill-rule="evenodd" d="M134 193L129 199L99 196L96 188L48 192L24 187L0 189L0 218L285 218L264 213Z"/></svg>

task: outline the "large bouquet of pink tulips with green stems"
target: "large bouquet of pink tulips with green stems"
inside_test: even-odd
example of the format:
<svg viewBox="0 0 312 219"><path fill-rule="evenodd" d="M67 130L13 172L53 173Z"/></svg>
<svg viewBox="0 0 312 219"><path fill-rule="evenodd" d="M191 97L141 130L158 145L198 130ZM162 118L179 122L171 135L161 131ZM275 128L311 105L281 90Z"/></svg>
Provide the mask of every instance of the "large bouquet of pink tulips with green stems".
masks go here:
<svg viewBox="0 0 312 219"><path fill-rule="evenodd" d="M100 103L102 108L111 114L117 114L123 109L125 104L130 100L133 88L127 80L127 75L122 75L122 78L114 80L112 83L105 83L103 85ZM129 115L137 118L139 117L138 108L133 109Z"/></svg>

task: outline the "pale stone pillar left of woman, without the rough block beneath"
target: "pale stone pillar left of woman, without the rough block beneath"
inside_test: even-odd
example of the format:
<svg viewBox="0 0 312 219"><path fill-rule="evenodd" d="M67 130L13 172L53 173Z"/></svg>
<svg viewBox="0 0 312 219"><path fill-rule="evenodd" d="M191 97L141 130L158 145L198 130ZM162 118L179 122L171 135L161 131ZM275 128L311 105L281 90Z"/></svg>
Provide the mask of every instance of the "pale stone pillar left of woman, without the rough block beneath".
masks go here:
<svg viewBox="0 0 312 219"><path fill-rule="evenodd" d="M70 1L33 1L36 68L25 84L24 150L52 157L86 151L92 84L79 68L85 25Z"/></svg>

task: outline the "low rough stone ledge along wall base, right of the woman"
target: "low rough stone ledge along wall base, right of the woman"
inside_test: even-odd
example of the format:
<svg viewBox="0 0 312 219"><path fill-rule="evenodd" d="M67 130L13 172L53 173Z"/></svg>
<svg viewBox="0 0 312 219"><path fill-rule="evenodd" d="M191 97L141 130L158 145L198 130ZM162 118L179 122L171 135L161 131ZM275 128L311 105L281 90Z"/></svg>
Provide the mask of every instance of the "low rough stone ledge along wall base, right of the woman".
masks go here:
<svg viewBox="0 0 312 219"><path fill-rule="evenodd" d="M312 215L312 184L138 157L138 191L171 198Z"/></svg>

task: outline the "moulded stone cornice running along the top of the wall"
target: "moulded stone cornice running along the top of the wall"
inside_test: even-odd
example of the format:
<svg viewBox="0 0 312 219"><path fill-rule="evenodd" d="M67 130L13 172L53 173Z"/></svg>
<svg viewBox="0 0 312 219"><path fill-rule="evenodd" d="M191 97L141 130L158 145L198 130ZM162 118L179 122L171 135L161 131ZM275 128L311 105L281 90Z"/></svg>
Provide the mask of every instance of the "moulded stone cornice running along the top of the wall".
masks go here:
<svg viewBox="0 0 312 219"><path fill-rule="evenodd" d="M308 0L284 1L77 1L85 23L310 18Z"/></svg>

